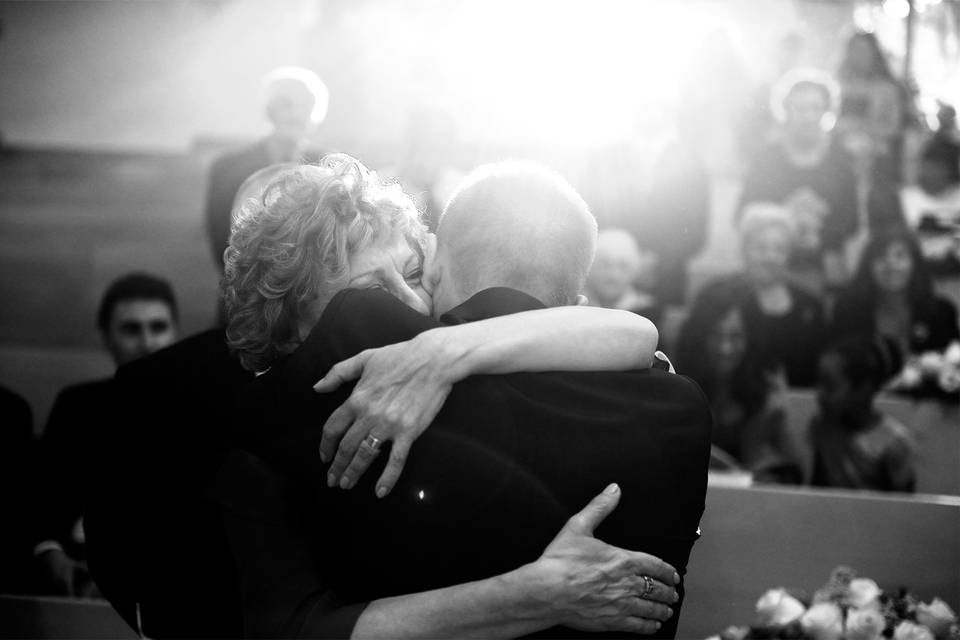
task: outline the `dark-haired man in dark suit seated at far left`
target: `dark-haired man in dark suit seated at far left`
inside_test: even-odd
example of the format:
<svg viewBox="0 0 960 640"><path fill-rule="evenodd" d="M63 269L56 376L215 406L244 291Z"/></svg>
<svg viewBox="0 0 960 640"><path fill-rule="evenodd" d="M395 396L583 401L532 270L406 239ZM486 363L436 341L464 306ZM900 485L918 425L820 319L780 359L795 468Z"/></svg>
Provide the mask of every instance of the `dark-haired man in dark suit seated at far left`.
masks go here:
<svg viewBox="0 0 960 640"><path fill-rule="evenodd" d="M162 349L177 335L173 290L148 274L118 278L100 302L97 327L118 367ZM41 440L42 516L35 548L44 592L83 595L92 589L83 562L84 494L100 446L99 427L117 402L114 380L108 378L68 387L53 404Z"/></svg>

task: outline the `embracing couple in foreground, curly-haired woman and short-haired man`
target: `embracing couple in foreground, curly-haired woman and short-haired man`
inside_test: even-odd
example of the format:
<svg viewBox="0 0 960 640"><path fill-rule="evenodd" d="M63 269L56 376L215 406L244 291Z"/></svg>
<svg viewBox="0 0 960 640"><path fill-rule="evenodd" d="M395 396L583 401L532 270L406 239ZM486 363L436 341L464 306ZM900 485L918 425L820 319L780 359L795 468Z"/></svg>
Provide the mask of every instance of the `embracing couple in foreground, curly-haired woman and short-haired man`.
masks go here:
<svg viewBox="0 0 960 640"><path fill-rule="evenodd" d="M163 511L154 531L217 550L196 553L197 573L229 580L196 599L227 602L249 637L673 637L710 410L657 366L649 321L581 304L597 225L577 192L532 163L483 166L434 237L399 186L346 155L254 180L222 288L226 343L256 376L207 373L196 349L166 369L170 385L194 380L184 393L210 391L212 435L165 450L222 455L187 491L127 466L151 476L150 497L131 496L141 529ZM140 375L131 397L172 393L164 377ZM204 506L183 522L189 500ZM151 580L169 566L118 565L163 543L131 544L103 511L91 568L150 635L177 609ZM183 607L209 612L169 615Z"/></svg>

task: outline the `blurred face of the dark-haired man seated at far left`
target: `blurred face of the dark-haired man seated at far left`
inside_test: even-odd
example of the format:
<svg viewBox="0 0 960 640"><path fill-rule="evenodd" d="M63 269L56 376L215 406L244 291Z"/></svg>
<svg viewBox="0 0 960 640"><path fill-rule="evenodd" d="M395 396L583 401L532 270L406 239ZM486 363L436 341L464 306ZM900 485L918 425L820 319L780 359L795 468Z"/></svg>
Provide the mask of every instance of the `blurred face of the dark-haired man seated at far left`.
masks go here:
<svg viewBox="0 0 960 640"><path fill-rule="evenodd" d="M121 300L113 307L103 334L118 367L170 346L176 339L173 313L162 300Z"/></svg>

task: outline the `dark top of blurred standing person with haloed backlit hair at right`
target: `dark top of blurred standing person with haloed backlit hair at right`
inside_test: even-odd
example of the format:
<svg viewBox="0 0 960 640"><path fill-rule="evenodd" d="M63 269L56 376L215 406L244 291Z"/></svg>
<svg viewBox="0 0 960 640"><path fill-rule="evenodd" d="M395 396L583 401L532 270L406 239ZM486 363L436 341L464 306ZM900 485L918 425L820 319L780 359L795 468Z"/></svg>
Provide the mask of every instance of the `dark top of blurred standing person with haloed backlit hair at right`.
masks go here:
<svg viewBox="0 0 960 640"><path fill-rule="evenodd" d="M819 250L794 251L797 266L820 267L823 251L838 251L859 226L857 214L857 178L849 156L837 145L830 147L824 160L812 167L798 167L788 158L781 144L762 150L752 162L743 185L737 219L744 206L752 202L784 204L797 190L809 188L827 205L821 220Z"/></svg>

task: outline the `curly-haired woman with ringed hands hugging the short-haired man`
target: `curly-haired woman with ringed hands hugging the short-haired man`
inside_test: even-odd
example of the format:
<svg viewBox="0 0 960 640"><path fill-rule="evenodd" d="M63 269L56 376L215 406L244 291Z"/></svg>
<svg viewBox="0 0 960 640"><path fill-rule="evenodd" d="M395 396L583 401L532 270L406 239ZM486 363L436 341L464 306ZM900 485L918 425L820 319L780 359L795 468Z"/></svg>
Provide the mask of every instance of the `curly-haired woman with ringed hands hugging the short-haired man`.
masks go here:
<svg viewBox="0 0 960 640"><path fill-rule="evenodd" d="M251 451L282 475L313 482L319 471L313 469L317 430L304 433L303 425L290 424L270 412L282 410L287 398L291 403L315 402L315 424L322 425L334 401L345 396L320 396L309 388L284 389L291 368L315 364L297 359L304 353L298 348L323 337L318 335L322 323L315 325L328 307L343 301L343 295L337 294L347 288L383 290L421 313L430 313L432 301L421 278L424 260L432 251L432 236L411 200L398 186L382 184L349 156L331 156L319 167L283 173L260 198L247 201L225 253L223 290L228 341L246 368L263 374L241 406L240 421L252 431ZM355 321L362 329L369 318ZM644 367L651 363L656 339L656 329L643 318L589 307L527 311L431 329L406 343L405 357L397 362L398 367L420 375L410 377L414 383L406 390L409 397L395 396L401 405L395 413L412 412L413 422L422 425L422 431L452 384L469 375ZM389 337L385 342L390 342ZM331 354L330 361L317 370L323 375L331 364L349 355L353 354ZM409 395L411 389L413 395ZM283 393L289 395L278 402L277 395ZM424 405L433 408L426 410ZM263 410L264 406L269 408ZM270 424L258 425L259 420ZM295 443L286 448L294 452L287 457L277 454L274 446L284 439ZM399 442L398 436L395 449ZM291 577L284 578L282 585L266 579L276 571L264 569L263 563L251 558L259 557L258 553L272 557L269 550L264 551L268 545L270 549L293 546L302 539L288 530L279 531L279 525L271 529L261 523L252 537L247 536L247 547L235 549L245 628L252 635L507 637L565 624L585 630L651 633L669 617L667 604L675 601L673 585L679 578L672 567L652 556L611 547L590 535L592 527L615 507L616 497L615 490L597 496L571 519L540 559L515 571L350 605L329 592L322 575L307 572L303 577L302 566L291 568ZM265 502L263 511L271 512L282 501ZM239 517L227 515L228 531L234 533L249 527L249 522L249 509ZM322 536L324 527L331 524L321 523L308 535ZM603 571L597 570L600 566ZM637 598L639 574L656 578L662 587L650 600ZM304 580L307 586L301 590Z"/></svg>

